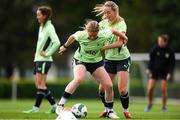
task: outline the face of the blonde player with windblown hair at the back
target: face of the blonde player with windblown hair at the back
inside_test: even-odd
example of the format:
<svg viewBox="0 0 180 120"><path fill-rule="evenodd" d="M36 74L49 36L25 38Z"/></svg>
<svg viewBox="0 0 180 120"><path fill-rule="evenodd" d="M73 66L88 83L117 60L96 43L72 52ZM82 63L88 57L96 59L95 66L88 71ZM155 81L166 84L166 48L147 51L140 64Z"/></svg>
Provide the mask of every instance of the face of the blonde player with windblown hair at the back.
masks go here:
<svg viewBox="0 0 180 120"><path fill-rule="evenodd" d="M104 16L109 21L113 21L116 18L116 12L111 7L104 7Z"/></svg>

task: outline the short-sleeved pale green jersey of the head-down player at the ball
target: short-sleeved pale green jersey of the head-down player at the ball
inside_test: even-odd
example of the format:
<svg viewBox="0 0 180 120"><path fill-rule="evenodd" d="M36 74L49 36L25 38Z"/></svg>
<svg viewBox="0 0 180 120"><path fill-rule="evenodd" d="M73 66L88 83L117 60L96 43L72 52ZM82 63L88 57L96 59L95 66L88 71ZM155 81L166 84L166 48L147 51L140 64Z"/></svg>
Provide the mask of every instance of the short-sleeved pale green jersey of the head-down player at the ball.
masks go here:
<svg viewBox="0 0 180 120"><path fill-rule="evenodd" d="M90 40L87 31L77 31L73 34L80 47L76 50L74 58L82 62L96 63L103 59L101 48L105 45L107 39L112 37L111 30L101 30L97 34L97 38Z"/></svg>

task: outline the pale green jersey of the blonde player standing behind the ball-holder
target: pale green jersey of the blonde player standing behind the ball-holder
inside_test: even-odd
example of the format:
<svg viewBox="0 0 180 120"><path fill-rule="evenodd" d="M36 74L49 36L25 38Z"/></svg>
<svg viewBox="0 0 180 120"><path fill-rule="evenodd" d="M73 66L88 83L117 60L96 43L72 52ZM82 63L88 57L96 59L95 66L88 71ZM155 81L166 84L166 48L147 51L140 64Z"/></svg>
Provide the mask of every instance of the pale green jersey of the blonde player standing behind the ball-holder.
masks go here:
<svg viewBox="0 0 180 120"><path fill-rule="evenodd" d="M100 23L100 29L116 29L120 32L126 32L127 26L125 21L120 21L114 25L110 25L108 20L102 20ZM113 35L107 42L107 44L112 44L117 40L117 36ZM124 60L130 57L129 50L127 46L123 45L120 48L113 48L113 49L108 49L105 51L105 59L107 60Z"/></svg>

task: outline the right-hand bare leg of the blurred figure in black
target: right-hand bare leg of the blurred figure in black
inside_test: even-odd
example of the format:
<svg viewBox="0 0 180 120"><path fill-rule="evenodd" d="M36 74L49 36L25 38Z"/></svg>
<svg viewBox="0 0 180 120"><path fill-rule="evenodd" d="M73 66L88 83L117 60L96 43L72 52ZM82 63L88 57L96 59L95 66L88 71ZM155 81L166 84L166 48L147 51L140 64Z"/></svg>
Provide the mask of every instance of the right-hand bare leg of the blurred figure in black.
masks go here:
<svg viewBox="0 0 180 120"><path fill-rule="evenodd" d="M167 81L161 80L161 95L162 95L162 112L166 112L166 101L167 101Z"/></svg>

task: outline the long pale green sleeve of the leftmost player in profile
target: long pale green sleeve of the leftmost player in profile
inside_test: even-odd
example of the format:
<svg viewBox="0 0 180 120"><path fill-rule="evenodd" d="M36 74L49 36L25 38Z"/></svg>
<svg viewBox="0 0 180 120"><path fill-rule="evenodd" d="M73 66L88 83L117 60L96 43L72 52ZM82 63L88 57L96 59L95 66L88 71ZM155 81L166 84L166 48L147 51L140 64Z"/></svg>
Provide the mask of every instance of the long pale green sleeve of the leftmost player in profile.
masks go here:
<svg viewBox="0 0 180 120"><path fill-rule="evenodd" d="M57 50L57 48L60 46L60 41L56 34L54 26L51 26L49 28L48 33L49 33L49 37L51 39L51 47L47 51L46 56L51 56Z"/></svg>

